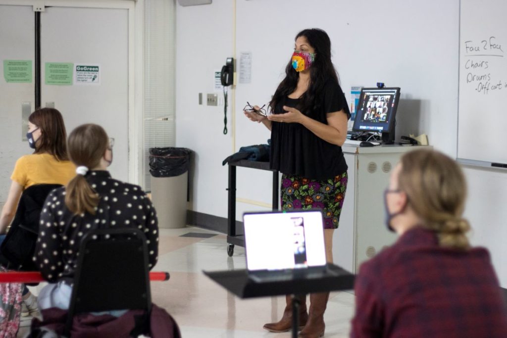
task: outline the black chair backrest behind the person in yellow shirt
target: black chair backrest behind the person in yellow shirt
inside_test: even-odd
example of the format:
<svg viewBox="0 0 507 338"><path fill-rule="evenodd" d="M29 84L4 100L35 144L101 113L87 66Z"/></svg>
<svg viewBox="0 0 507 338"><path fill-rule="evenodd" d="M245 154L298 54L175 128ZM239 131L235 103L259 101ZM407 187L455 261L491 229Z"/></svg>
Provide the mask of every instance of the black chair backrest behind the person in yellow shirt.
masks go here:
<svg viewBox="0 0 507 338"><path fill-rule="evenodd" d="M49 193L61 184L35 184L27 187L19 200L16 215L0 248L0 264L12 270L38 270L32 257L39 235L39 218Z"/></svg>

